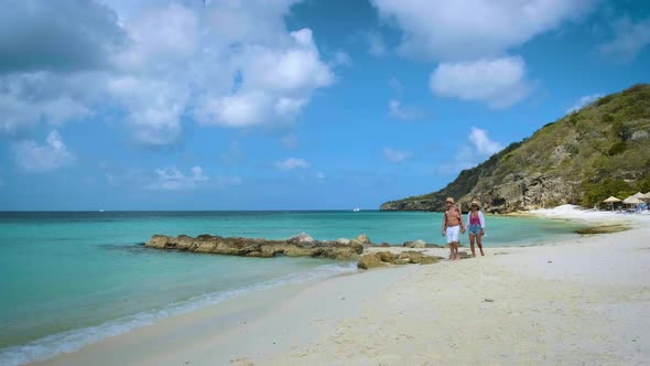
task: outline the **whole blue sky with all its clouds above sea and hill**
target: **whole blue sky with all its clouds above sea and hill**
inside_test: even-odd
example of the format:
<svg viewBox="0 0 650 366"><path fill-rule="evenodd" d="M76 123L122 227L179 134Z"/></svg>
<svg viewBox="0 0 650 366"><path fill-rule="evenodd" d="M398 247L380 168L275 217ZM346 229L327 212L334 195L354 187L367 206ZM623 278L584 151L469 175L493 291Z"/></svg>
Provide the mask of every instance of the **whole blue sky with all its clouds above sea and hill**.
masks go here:
<svg viewBox="0 0 650 366"><path fill-rule="evenodd" d="M451 3L0 1L0 209L375 209L650 80L647 1Z"/></svg>

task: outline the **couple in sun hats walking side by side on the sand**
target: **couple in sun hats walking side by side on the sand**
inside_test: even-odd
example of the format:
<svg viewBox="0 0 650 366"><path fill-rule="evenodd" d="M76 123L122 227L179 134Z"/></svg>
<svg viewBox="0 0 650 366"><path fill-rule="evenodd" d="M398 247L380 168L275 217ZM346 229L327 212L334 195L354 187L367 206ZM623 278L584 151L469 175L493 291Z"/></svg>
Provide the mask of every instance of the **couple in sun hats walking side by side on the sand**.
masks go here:
<svg viewBox="0 0 650 366"><path fill-rule="evenodd" d="M465 234L465 223L463 222L463 214L456 206L453 197L448 197L446 201L447 209L443 218L443 236L447 236L447 244L449 245L449 259L461 259L458 256L459 234ZM469 227L469 246L472 248L472 257L476 257L474 251L474 241L478 245L480 255L483 252L483 236L485 235L485 217L480 212L478 201L472 201L469 213L467 214L467 223Z"/></svg>

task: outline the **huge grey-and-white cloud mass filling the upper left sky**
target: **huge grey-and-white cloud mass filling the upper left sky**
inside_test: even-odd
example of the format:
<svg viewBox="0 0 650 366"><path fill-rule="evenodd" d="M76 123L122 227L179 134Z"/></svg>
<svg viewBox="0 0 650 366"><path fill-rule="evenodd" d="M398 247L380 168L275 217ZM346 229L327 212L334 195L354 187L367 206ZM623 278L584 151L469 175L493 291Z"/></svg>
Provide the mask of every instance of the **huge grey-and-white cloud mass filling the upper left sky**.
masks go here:
<svg viewBox="0 0 650 366"><path fill-rule="evenodd" d="M17 2L0 14L0 132L98 105L148 146L175 143L193 120L291 125L350 63L343 52L323 60L311 30L286 30L295 2Z"/></svg>

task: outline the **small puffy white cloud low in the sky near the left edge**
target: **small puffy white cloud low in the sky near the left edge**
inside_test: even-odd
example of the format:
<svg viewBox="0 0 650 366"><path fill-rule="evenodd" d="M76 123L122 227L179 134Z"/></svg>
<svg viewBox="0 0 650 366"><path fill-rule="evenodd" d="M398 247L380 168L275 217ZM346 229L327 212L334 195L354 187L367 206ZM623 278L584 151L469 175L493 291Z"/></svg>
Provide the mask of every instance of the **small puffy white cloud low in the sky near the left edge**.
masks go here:
<svg viewBox="0 0 650 366"><path fill-rule="evenodd" d="M45 144L34 140L22 140L13 144L15 164L25 172L45 173L71 164L75 155L67 149L61 134L52 131Z"/></svg>

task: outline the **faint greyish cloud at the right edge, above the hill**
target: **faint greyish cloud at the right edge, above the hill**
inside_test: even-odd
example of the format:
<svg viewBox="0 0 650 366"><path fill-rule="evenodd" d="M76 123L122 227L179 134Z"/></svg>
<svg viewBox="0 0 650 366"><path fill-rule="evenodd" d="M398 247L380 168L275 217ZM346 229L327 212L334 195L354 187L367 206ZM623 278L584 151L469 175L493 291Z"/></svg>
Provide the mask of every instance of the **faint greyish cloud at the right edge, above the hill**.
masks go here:
<svg viewBox="0 0 650 366"><path fill-rule="evenodd" d="M622 18L616 22L614 40L598 45L598 51L617 60L631 61L648 44L650 44L650 18L638 22Z"/></svg>

